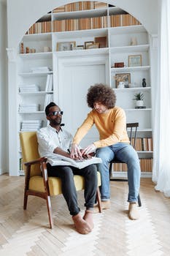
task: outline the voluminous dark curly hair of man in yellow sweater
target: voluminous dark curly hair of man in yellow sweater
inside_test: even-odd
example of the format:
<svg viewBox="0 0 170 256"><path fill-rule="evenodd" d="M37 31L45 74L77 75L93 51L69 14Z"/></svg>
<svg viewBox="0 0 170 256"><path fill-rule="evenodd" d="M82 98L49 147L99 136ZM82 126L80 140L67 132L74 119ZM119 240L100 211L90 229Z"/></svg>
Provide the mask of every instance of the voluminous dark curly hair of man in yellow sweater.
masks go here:
<svg viewBox="0 0 170 256"><path fill-rule="evenodd" d="M94 108L93 105L95 102L100 102L108 109L114 108L116 95L109 86L104 85L103 83L96 83L88 89L87 102L89 108Z"/></svg>

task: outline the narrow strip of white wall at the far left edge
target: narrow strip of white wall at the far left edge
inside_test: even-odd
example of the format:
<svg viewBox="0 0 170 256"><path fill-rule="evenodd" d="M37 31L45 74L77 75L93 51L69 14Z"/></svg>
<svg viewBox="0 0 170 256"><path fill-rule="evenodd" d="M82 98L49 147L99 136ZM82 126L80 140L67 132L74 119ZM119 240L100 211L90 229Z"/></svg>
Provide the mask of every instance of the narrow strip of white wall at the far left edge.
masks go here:
<svg viewBox="0 0 170 256"><path fill-rule="evenodd" d="M7 5L0 1L0 174L8 170Z"/></svg>

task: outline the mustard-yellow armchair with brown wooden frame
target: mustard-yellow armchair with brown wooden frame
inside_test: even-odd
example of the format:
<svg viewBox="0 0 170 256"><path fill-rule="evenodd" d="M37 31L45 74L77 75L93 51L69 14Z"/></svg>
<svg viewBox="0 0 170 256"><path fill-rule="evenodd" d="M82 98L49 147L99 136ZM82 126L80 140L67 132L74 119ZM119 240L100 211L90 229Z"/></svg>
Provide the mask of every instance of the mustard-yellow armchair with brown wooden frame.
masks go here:
<svg viewBox="0 0 170 256"><path fill-rule="evenodd" d="M20 132L20 144L26 173L23 209L26 210L28 195L44 198L47 202L50 228L53 228L50 196L62 194L61 179L47 176L47 158L39 157L36 132ZM85 189L85 181L82 176L74 175L74 183L77 191ZM98 187L99 186L101 186L100 173L98 173ZM98 202L99 212L101 212L99 189L97 189L96 192L96 201Z"/></svg>

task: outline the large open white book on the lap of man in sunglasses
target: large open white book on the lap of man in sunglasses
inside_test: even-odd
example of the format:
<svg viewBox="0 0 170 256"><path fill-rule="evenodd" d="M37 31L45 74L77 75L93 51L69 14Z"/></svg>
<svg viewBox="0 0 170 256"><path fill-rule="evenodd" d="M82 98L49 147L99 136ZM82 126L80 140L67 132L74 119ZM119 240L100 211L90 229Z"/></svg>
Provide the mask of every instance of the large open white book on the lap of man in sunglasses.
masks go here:
<svg viewBox="0 0 170 256"><path fill-rule="evenodd" d="M79 169L82 169L88 165L98 164L101 163L101 158L98 157L92 157L90 159L83 159L83 160L74 160L69 157L63 157L61 155L53 154L53 156L47 157L47 162L50 163L50 165L66 165L66 166L74 166Z"/></svg>

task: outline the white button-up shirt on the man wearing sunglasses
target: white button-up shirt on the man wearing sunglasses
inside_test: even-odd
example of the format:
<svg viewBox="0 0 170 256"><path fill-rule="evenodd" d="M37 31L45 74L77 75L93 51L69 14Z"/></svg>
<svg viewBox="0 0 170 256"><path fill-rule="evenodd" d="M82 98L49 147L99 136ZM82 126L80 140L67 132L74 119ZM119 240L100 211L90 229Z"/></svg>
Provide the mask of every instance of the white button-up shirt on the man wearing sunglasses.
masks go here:
<svg viewBox="0 0 170 256"><path fill-rule="evenodd" d="M50 157L53 154L55 148L61 148L63 151L67 151L71 148L72 135L66 130L60 129L59 132L50 124L47 127L43 127L36 132L36 137L39 143L40 157Z"/></svg>

